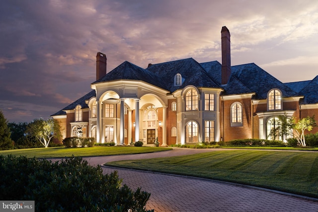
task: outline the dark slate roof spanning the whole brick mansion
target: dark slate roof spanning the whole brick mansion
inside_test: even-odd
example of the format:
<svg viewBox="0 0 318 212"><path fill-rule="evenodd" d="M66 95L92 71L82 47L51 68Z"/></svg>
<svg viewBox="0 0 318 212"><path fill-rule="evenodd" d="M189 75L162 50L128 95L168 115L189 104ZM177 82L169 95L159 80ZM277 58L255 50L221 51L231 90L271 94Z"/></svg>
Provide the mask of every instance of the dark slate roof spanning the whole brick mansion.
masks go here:
<svg viewBox="0 0 318 212"><path fill-rule="evenodd" d="M254 63L250 63L232 66L229 82L222 85L221 71L222 65L218 61L199 64L193 58L155 64L147 69L125 61L92 84L119 79L142 80L171 93L187 85L194 85L196 87L223 88L222 95L255 93L254 98L256 99L266 99L269 90L278 88L282 91L283 97L304 95L304 103L318 102L318 92L316 92L318 90L318 76L308 81L282 83ZM180 86L174 86L174 76L177 73L182 76ZM95 90L52 116L65 115L64 110L73 110L77 105L88 108L85 100L93 96L96 96Z"/></svg>

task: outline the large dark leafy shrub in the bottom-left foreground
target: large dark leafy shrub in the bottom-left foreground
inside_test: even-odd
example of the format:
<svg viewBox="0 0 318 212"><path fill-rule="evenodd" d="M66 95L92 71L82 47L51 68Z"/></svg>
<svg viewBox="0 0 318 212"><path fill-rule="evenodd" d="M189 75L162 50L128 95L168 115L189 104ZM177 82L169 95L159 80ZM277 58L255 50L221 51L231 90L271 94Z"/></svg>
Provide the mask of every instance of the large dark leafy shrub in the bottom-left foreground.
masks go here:
<svg viewBox="0 0 318 212"><path fill-rule="evenodd" d="M0 155L0 173L0 200L34 200L35 211L146 212L150 197L79 157L52 163Z"/></svg>

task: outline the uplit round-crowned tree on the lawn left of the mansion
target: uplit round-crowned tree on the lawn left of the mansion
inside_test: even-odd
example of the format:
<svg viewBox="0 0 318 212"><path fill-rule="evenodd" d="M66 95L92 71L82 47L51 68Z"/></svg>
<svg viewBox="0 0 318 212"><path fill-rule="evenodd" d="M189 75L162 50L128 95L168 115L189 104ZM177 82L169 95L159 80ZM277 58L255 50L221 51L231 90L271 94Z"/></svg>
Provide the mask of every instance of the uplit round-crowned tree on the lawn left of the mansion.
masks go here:
<svg viewBox="0 0 318 212"><path fill-rule="evenodd" d="M34 119L26 129L26 133L36 137L45 147L53 137L61 138L61 127L56 119L50 118L47 121L41 119Z"/></svg>

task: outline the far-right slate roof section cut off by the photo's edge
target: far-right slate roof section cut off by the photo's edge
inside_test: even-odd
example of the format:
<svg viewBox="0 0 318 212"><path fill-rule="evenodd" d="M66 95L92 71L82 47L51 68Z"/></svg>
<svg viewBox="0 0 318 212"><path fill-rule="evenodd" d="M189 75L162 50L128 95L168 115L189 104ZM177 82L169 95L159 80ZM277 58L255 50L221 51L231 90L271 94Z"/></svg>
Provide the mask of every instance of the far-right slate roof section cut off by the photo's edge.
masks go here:
<svg viewBox="0 0 318 212"><path fill-rule="evenodd" d="M318 103L318 76L311 80L299 94L305 96L303 104Z"/></svg>

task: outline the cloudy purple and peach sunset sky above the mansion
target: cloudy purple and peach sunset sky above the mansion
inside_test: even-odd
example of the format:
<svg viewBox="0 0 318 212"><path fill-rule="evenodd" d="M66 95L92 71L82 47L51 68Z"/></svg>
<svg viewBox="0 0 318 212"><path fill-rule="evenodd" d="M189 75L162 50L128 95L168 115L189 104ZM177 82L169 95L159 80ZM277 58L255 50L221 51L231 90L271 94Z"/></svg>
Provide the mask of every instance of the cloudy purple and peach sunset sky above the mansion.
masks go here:
<svg viewBox="0 0 318 212"><path fill-rule="evenodd" d="M8 122L49 118L107 70L178 59L255 63L282 82L318 75L317 0L3 0L0 110ZM252 80L252 79L251 79Z"/></svg>

